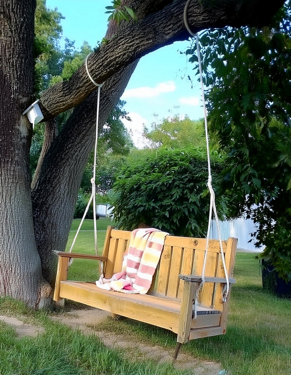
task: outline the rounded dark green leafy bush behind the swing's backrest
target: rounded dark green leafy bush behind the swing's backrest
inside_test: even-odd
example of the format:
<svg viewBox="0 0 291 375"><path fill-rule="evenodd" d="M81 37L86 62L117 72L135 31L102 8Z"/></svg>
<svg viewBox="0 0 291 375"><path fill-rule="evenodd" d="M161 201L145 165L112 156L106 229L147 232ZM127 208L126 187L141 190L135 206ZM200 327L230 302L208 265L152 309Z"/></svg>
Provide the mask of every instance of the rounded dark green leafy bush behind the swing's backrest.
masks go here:
<svg viewBox="0 0 291 375"><path fill-rule="evenodd" d="M144 158L123 167L113 185L114 219L119 228L132 230L144 224L175 235L204 237L209 212L205 153L161 148L141 155ZM223 218L230 215L231 202L221 194L217 172L222 160L217 153L215 158L212 183Z"/></svg>

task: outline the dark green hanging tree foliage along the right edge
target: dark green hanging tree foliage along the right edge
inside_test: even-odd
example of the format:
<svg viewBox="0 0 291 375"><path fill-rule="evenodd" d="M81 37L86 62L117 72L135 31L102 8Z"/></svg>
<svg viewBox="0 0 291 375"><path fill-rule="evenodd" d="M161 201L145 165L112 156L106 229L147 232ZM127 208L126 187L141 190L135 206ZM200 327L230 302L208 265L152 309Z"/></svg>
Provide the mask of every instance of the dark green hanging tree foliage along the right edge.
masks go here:
<svg viewBox="0 0 291 375"><path fill-rule="evenodd" d="M228 153L224 186L258 224L256 244L266 245L263 256L285 279L291 279L290 6L269 27L226 27L200 37L209 123Z"/></svg>

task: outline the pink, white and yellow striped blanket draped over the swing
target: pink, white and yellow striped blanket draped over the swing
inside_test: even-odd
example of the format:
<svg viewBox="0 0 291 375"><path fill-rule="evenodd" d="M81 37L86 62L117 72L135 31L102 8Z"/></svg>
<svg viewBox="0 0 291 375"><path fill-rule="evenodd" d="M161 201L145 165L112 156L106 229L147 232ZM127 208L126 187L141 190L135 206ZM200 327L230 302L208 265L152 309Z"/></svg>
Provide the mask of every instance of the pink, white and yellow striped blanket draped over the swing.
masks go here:
<svg viewBox="0 0 291 375"><path fill-rule="evenodd" d="M155 228L132 231L128 252L123 256L122 271L110 279L101 275L96 281L97 287L122 293L146 294L167 235L168 233Z"/></svg>

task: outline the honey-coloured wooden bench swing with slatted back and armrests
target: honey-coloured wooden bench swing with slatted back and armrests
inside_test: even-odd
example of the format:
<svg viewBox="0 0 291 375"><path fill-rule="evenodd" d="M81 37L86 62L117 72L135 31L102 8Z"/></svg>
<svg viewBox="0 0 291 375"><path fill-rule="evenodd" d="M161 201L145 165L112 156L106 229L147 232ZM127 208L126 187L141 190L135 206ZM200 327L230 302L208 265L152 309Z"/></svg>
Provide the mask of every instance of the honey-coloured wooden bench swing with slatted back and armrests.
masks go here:
<svg viewBox="0 0 291 375"><path fill-rule="evenodd" d="M218 240L209 240L205 284L199 293L196 319L193 318L193 301L201 276L195 275L202 274L205 239L166 236L160 262L147 294L125 294L99 289L92 282L67 281L70 258L101 261L105 278L120 272L130 237L129 231L108 226L102 257L60 252L53 299L59 301L66 298L108 311L112 317L121 315L168 329L177 334L177 342L181 344L226 333L230 294L227 302L223 302L226 279ZM237 240L234 238L223 241L230 285L235 282L232 275L236 246Z"/></svg>

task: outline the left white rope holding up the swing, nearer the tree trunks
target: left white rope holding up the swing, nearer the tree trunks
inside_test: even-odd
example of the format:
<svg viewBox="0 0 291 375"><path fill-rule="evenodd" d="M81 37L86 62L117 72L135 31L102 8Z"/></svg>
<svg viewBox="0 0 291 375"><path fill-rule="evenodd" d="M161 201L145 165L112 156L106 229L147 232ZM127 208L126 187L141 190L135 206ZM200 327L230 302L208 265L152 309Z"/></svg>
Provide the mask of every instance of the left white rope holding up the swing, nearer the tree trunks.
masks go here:
<svg viewBox="0 0 291 375"><path fill-rule="evenodd" d="M89 202L87 204L87 207L85 209L85 212L83 214L83 217L82 217L82 220L80 222L80 225L77 229L77 232L76 232L76 235L73 239L73 242L72 242L72 245L71 245L71 248L69 250L69 252L72 252L72 249L74 247L74 244L76 242L76 239L77 239L77 236L80 232L80 229L81 229L81 226L83 224L83 221L85 219L85 216L89 210L89 207L90 207L90 204L93 200L93 221L94 221L94 240L95 240L95 253L97 255L97 251L98 251L98 244L97 244L97 219L96 219L96 184L95 184L95 180L96 180L96 164L97 164L97 143L98 143L98 124L99 124L99 105L100 105L100 89L102 87L103 84L98 84L96 83L93 78L91 77L90 73L89 73L89 70L88 70L88 57L92 54L89 53L88 56L86 57L86 61L85 61L85 66L86 66L86 72L88 74L88 77L90 78L90 80L92 81L92 83L94 83L95 86L98 86L98 96L97 96L97 115L96 115L96 129L95 129L95 147L94 147L94 167L93 167L93 177L91 178L91 184L92 184L92 192L91 192L91 197L89 199Z"/></svg>

